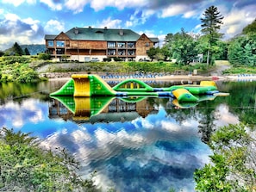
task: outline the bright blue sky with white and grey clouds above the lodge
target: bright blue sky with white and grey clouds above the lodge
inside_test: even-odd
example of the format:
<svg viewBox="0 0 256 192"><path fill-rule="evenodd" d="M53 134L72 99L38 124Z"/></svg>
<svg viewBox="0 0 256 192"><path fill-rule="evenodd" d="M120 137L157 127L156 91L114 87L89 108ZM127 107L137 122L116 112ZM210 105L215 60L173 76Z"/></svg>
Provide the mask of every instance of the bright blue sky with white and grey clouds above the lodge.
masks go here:
<svg viewBox="0 0 256 192"><path fill-rule="evenodd" d="M203 12L214 5L224 16L224 40L240 34L256 18L255 0L0 0L0 50L45 44L45 34L71 28L128 28L148 37L181 28L200 34Z"/></svg>

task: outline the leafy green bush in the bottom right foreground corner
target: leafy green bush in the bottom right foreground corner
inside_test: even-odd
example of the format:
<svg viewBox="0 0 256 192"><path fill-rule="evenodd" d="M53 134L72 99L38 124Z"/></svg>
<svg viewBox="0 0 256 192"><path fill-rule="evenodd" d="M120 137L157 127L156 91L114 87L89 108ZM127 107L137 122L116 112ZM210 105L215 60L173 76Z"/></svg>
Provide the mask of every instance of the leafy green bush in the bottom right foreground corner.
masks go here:
<svg viewBox="0 0 256 192"><path fill-rule="evenodd" d="M210 137L212 164L196 170L197 191L253 191L256 188L255 127L221 127Z"/></svg>

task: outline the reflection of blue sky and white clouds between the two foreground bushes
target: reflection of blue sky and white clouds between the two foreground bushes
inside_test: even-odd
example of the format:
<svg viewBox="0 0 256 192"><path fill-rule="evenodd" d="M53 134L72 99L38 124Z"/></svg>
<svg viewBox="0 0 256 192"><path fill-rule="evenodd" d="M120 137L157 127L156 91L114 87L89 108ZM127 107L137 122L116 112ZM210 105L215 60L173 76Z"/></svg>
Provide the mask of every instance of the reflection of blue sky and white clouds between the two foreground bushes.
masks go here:
<svg viewBox="0 0 256 192"><path fill-rule="evenodd" d="M81 159L83 175L97 170L98 185L118 191L193 191L193 172L210 154L194 118L178 122L165 108L133 121L79 124L54 133L48 146L66 146Z"/></svg>

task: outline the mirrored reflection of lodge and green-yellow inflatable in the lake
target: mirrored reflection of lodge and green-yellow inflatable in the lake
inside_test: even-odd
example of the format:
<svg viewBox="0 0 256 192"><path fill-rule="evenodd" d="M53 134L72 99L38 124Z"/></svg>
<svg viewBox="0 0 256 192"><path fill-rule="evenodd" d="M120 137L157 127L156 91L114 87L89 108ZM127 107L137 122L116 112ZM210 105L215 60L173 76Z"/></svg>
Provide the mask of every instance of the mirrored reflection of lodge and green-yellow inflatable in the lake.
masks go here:
<svg viewBox="0 0 256 192"><path fill-rule="evenodd" d="M91 123L132 121L154 108L147 97L55 97L49 102L49 118Z"/></svg>

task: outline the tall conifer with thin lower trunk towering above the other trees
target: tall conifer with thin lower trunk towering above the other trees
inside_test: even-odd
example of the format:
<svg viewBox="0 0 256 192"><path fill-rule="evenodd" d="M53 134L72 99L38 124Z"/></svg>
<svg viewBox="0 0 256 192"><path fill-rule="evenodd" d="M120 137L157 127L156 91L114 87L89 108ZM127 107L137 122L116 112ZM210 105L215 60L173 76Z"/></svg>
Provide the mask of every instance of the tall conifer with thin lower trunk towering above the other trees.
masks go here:
<svg viewBox="0 0 256 192"><path fill-rule="evenodd" d="M215 6L210 6L203 13L204 18L201 18L202 22L202 33L208 36L208 53L207 53L207 65L209 65L209 59L211 57L211 47L219 40L223 34L218 31L223 24L222 19L224 18Z"/></svg>

